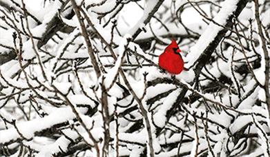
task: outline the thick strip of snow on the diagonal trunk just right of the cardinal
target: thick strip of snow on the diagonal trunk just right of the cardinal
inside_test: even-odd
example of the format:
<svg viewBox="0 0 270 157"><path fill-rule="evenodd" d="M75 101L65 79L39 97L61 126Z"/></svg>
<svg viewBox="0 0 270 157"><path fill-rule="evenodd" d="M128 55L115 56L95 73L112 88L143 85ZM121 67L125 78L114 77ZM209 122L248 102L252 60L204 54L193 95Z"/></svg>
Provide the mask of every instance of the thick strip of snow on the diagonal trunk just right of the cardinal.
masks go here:
<svg viewBox="0 0 270 157"><path fill-rule="evenodd" d="M220 12L215 16L213 21L219 23L220 25L224 25L226 23L226 19L232 14L232 12L236 9L236 4L239 0L226 0L222 3L222 8ZM223 28L215 23L211 22L206 30L204 30L203 34L200 36L200 39L197 43L191 48L190 52L186 56L186 61L188 61L185 66L190 68L194 65L194 63L199 59L200 55L206 50L206 47L211 43L215 36L222 30Z"/></svg>

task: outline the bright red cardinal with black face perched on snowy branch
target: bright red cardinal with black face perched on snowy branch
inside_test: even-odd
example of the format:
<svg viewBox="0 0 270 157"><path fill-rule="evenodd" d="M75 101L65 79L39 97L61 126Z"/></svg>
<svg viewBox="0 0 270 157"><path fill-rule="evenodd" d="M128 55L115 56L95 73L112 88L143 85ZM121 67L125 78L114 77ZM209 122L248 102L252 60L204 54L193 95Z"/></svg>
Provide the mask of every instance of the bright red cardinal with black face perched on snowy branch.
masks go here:
<svg viewBox="0 0 270 157"><path fill-rule="evenodd" d="M180 74L184 69L184 61L180 52L177 43L172 40L171 44L160 54L158 65L171 74Z"/></svg>

